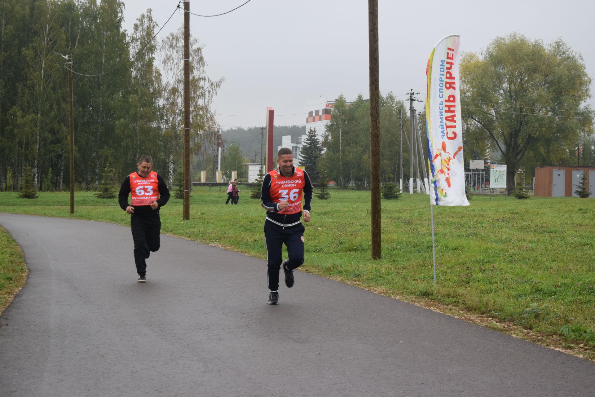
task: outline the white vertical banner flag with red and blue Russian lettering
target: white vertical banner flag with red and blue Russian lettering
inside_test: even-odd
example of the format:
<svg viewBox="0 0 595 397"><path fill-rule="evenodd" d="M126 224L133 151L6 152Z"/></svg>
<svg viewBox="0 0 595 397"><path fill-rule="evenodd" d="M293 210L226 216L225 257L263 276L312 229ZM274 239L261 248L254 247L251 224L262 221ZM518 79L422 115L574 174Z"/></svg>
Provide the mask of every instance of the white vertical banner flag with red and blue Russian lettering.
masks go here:
<svg viewBox="0 0 595 397"><path fill-rule="evenodd" d="M431 203L469 205L463 163L459 35L446 36L436 44L425 74Z"/></svg>

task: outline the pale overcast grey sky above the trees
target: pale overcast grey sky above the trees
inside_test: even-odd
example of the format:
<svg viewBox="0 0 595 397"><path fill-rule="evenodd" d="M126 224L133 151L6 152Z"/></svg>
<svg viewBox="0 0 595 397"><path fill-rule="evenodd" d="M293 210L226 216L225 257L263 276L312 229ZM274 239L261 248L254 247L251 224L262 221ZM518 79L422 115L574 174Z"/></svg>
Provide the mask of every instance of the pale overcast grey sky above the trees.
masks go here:
<svg viewBox="0 0 595 397"><path fill-rule="evenodd" d="M124 2L124 28L129 32L147 8L161 26L178 4L177 0ZM191 0L190 11L220 14L243 2ZM461 35L461 51L474 52L513 31L544 43L560 37L583 55L587 72L595 75L591 0L378 3L383 93L402 95L414 89L424 98L430 51L452 33ZM179 12L158 37L182 24ZM251 0L220 17L190 15L190 29L205 45L209 77L225 78L212 106L222 129L264 126L267 107L275 110L275 124L303 124L308 99L321 95L334 99L341 93L347 99L359 93L369 96L365 0ZM595 107L593 98L587 103Z"/></svg>

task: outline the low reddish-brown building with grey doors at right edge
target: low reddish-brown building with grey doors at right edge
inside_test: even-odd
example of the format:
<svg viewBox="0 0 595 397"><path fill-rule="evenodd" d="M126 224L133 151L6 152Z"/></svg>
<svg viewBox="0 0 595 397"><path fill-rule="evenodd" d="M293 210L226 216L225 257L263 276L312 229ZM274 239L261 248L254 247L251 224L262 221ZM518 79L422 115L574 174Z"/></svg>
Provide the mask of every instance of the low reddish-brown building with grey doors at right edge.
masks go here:
<svg viewBox="0 0 595 397"><path fill-rule="evenodd" d="M534 195L541 197L578 197L574 191L578 189L583 174L587 176L587 185L591 192L589 197L595 197L593 186L595 185L595 167L585 165L535 167Z"/></svg>

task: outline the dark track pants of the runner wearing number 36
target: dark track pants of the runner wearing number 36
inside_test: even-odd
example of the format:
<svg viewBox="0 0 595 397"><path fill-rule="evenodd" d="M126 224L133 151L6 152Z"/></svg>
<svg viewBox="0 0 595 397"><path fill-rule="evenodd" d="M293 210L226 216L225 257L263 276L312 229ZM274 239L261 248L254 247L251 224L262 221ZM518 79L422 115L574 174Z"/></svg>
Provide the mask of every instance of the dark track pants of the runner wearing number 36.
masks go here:
<svg viewBox="0 0 595 397"><path fill-rule="evenodd" d="M264 237L267 243L267 280L268 289L276 291L279 289L279 271L281 269L281 248L287 246L289 263L287 268L296 269L303 264L303 224L286 227L278 226L271 221L264 222Z"/></svg>

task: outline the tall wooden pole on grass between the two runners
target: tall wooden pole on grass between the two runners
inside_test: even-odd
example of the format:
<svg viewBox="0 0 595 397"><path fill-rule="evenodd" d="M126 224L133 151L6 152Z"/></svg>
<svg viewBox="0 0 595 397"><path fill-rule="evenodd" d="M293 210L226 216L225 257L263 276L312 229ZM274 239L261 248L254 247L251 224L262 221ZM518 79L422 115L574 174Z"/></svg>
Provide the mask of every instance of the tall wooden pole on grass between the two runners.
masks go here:
<svg viewBox="0 0 595 397"><path fill-rule="evenodd" d="M184 0L184 220L190 219L190 0Z"/></svg>

